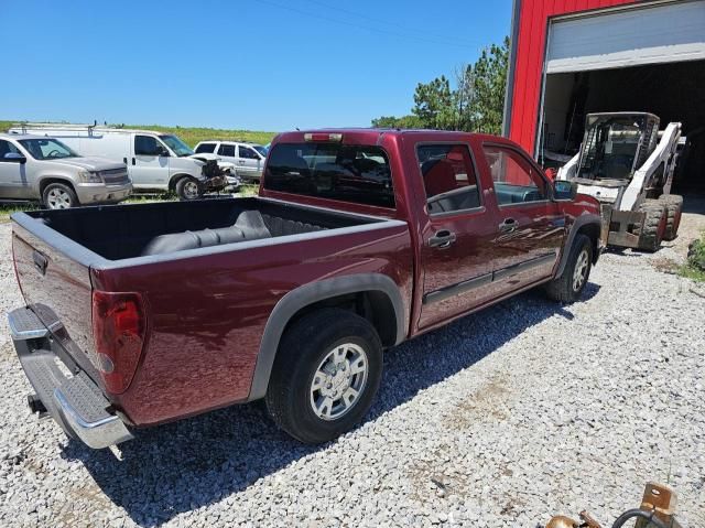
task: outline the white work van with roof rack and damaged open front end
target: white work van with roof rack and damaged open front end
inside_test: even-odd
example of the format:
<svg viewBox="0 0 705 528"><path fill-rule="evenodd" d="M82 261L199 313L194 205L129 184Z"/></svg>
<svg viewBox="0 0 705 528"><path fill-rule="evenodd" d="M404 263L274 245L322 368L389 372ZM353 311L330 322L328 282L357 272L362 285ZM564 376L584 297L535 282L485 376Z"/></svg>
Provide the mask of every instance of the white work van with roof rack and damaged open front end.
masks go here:
<svg viewBox="0 0 705 528"><path fill-rule="evenodd" d="M215 154L194 154L171 133L52 123L21 125L9 132L59 138L82 155L124 163L135 191L173 191L182 200L195 200L205 192L239 185L232 163L221 162Z"/></svg>

